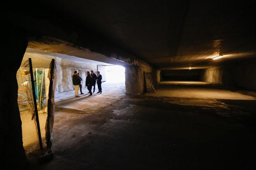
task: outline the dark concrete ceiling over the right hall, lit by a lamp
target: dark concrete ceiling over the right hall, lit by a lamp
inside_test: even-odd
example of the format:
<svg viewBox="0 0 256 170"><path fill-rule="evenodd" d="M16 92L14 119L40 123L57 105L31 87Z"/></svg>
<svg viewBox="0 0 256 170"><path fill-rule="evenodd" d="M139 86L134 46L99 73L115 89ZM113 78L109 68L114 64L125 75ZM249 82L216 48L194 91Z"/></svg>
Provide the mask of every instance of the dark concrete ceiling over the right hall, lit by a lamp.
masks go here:
<svg viewBox="0 0 256 170"><path fill-rule="evenodd" d="M47 3L56 15L69 18L160 69L207 68L256 57L254 1ZM212 60L219 53L223 58Z"/></svg>

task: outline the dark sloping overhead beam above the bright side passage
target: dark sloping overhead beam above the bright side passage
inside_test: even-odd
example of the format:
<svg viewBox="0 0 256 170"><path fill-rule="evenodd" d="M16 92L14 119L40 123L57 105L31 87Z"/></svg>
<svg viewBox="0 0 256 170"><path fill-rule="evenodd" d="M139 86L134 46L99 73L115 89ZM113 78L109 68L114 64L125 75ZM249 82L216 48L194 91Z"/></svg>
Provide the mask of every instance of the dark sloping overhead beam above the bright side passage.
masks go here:
<svg viewBox="0 0 256 170"><path fill-rule="evenodd" d="M139 66L141 62L145 63L86 29L74 25L63 27L47 17L40 20L34 16L16 13L9 13L7 16L13 25L22 27L27 32L29 48L122 66Z"/></svg>

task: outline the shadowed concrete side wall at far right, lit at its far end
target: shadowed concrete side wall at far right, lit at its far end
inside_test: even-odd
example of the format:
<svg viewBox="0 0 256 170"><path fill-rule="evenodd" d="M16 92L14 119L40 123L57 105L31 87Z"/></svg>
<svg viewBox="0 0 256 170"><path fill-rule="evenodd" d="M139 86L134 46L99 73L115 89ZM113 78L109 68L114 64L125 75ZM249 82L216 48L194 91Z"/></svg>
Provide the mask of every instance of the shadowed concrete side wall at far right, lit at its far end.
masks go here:
<svg viewBox="0 0 256 170"><path fill-rule="evenodd" d="M256 60L208 68L203 71L202 81L256 90Z"/></svg>

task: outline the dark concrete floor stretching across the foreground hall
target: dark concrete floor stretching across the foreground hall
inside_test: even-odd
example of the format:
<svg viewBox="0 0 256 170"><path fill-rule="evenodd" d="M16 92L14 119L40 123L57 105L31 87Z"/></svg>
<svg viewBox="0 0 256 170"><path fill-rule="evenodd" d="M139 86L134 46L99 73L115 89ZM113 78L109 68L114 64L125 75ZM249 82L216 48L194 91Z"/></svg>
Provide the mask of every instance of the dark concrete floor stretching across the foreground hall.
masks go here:
<svg viewBox="0 0 256 170"><path fill-rule="evenodd" d="M199 84L200 91L220 90ZM167 86L174 85L165 84L158 91L167 91ZM177 88L184 92L195 87ZM101 95L57 102L55 158L38 165L29 154L29 169L255 168L254 92L222 87L221 93L228 95L218 99L197 98L200 91L191 98L191 93L187 97L125 95L124 89L124 84L103 86ZM234 99L235 95L244 98Z"/></svg>

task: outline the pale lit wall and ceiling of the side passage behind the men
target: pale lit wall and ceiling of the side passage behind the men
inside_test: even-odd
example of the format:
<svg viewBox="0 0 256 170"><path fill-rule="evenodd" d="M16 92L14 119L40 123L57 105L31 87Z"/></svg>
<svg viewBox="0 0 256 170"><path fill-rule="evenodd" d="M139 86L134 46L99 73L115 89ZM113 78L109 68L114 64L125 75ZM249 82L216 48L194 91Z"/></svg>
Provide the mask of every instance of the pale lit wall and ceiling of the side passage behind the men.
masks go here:
<svg viewBox="0 0 256 170"><path fill-rule="evenodd" d="M74 71L78 71L80 73L80 77L83 79L82 87L85 88L85 79L86 79L86 72L90 70L97 71L97 64L107 65L107 63L97 62L88 59L81 59L74 56L68 56L64 54L56 54L45 52L42 50L33 50L31 48L27 48L27 52L25 52L22 64L27 61L28 58L32 59L33 71L45 69L45 76L46 80L48 80L48 70L50 66L50 62L52 59L59 64L60 70L58 74L58 84L57 84L57 93L62 93L65 91L73 90L73 83L72 83L72 75ZM102 71L103 73L103 71ZM104 74L104 73L103 73ZM20 71L17 72L17 81L18 87L23 88L22 86L22 78L20 75ZM23 91L19 91L19 98L24 98L25 93Z"/></svg>

